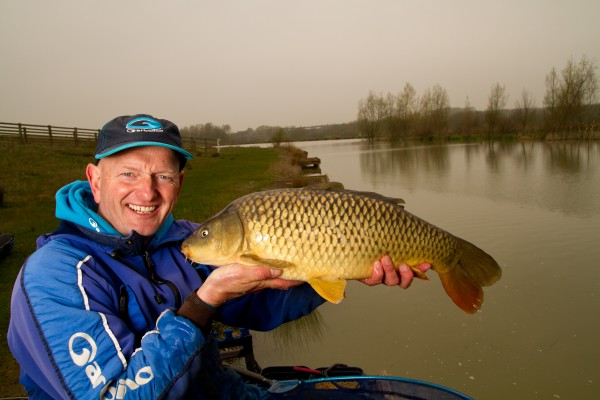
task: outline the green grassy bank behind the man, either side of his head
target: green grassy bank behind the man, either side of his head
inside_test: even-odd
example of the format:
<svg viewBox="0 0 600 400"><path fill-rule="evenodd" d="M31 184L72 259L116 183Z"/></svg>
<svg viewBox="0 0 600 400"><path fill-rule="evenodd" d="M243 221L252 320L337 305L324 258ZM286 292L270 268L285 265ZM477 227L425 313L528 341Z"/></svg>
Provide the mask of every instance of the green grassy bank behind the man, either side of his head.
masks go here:
<svg viewBox="0 0 600 400"><path fill-rule="evenodd" d="M84 168L93 154L92 145L0 141L0 232L15 236L11 255L0 261L0 397L24 394L6 342L14 280L34 251L35 239L57 225L54 194L73 180L85 180ZM225 148L218 155L197 155L186 168L175 218L202 221L231 200L268 187L278 174L273 166L280 158L272 148Z"/></svg>

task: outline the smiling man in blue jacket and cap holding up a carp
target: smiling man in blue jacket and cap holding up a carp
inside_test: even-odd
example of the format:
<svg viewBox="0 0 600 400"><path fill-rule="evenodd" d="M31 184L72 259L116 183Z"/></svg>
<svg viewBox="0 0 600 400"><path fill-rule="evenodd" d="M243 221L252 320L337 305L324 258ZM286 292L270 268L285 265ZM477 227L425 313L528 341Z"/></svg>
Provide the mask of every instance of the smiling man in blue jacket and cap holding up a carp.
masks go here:
<svg viewBox="0 0 600 400"><path fill-rule="evenodd" d="M221 368L211 320L270 330L323 300L275 269L186 262L180 244L197 224L171 212L192 156L172 122L115 118L95 157L87 182L58 191L60 226L15 283L8 342L30 398L267 396ZM412 278L384 257L365 283Z"/></svg>

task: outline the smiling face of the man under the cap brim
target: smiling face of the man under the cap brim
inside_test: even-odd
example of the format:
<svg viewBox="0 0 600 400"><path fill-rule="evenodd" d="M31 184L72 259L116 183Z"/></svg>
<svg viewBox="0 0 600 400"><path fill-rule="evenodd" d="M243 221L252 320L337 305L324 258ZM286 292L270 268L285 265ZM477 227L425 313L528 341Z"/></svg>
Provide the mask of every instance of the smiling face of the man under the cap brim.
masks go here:
<svg viewBox="0 0 600 400"><path fill-rule="evenodd" d="M122 235L152 236L179 196L183 171L173 150L145 146L120 151L89 164L87 177L98 213Z"/></svg>

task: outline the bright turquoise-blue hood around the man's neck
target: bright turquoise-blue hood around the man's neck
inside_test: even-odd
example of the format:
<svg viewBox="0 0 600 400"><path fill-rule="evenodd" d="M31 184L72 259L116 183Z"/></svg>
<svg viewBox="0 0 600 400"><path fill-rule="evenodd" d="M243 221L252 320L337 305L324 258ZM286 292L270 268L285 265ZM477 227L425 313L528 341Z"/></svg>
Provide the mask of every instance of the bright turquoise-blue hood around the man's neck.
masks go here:
<svg viewBox="0 0 600 400"><path fill-rule="evenodd" d="M56 218L73 223L84 230L124 237L98 214L98 205L94 201L92 189L87 181L75 181L56 192ZM172 224L173 215L171 214L154 234L152 242L160 241Z"/></svg>

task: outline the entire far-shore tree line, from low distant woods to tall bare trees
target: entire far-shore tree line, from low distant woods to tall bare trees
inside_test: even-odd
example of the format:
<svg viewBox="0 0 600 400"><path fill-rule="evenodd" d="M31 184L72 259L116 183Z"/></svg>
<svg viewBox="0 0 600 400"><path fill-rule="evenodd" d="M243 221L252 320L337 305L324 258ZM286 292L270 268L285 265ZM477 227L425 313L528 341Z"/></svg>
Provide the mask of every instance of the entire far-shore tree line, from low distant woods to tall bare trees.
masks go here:
<svg viewBox="0 0 600 400"><path fill-rule="evenodd" d="M219 139L220 144L250 144L287 141L345 139L432 139L457 136L487 138L503 135L548 135L560 139L585 139L600 135L598 67L582 57L570 59L545 77L546 93L540 105L524 88L509 105L506 86L495 83L485 110L476 110L465 99L462 107L451 107L448 92L439 84L418 95L406 83L398 94L369 92L358 103L355 121L313 127L259 126L231 132L229 125L197 124L181 129L184 137Z"/></svg>

